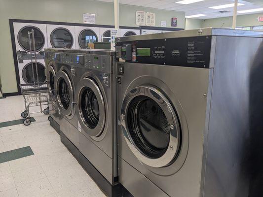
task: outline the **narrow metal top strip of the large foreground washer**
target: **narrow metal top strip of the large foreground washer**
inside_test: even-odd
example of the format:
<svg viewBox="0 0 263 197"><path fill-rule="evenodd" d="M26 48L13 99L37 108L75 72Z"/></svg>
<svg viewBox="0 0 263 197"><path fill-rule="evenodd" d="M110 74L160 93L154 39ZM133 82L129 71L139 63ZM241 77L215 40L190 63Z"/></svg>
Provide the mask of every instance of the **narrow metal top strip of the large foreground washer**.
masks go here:
<svg viewBox="0 0 263 197"><path fill-rule="evenodd" d="M136 40L166 39L166 38L195 37L195 36L209 36L209 35L263 38L263 32L220 29L220 28L202 28L196 30L182 30L182 31L174 31L174 32L166 32L166 33L153 33L153 34L145 34L145 35L131 35L125 37L117 37L115 38L115 41L125 42L125 41L136 41Z"/></svg>

